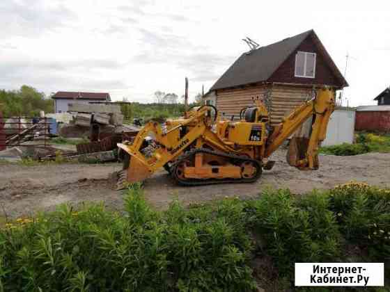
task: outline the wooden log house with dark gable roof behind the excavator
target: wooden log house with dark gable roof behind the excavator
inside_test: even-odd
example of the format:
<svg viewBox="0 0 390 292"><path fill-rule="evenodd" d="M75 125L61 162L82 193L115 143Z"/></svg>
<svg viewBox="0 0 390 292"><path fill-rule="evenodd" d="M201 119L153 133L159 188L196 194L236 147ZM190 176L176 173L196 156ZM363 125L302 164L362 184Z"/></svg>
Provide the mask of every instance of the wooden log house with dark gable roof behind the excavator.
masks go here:
<svg viewBox="0 0 390 292"><path fill-rule="evenodd" d="M311 99L313 89L348 86L313 30L242 54L203 97L226 116L259 97L270 111L271 123L281 122L296 106Z"/></svg>

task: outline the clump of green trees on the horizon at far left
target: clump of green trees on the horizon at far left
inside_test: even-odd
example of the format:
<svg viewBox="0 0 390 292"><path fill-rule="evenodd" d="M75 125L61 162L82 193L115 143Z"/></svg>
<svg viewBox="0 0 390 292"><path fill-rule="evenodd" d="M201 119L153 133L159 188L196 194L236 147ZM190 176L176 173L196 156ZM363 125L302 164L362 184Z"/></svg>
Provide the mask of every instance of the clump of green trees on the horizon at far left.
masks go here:
<svg viewBox="0 0 390 292"><path fill-rule="evenodd" d="M18 90L0 90L0 111L4 117L36 117L40 111L52 113L54 103L44 92L24 85Z"/></svg>

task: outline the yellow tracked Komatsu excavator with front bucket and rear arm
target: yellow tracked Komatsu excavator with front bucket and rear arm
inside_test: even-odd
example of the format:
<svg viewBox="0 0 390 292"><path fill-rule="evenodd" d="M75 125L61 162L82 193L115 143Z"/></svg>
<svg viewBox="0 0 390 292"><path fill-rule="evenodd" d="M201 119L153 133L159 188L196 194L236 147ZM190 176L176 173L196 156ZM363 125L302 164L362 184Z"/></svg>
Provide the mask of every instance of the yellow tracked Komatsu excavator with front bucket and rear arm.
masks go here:
<svg viewBox="0 0 390 292"><path fill-rule="evenodd" d="M123 158L118 189L143 181L160 168L185 186L256 181L263 169L274 165L270 155L310 117L309 138L291 138L287 161L299 170L318 169L318 145L334 111L334 91L315 90L311 100L275 127L263 102L253 102L237 121L225 120L214 106L203 105L176 120L148 122L132 141L118 144Z"/></svg>

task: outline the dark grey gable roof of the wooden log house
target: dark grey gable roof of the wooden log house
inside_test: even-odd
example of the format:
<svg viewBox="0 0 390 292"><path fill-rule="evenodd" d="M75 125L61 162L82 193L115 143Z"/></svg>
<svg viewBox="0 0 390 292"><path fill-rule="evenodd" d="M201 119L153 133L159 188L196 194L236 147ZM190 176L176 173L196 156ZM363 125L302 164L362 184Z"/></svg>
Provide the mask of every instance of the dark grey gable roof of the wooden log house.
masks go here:
<svg viewBox="0 0 390 292"><path fill-rule="evenodd" d="M329 67L331 67L332 72L334 72L340 80L340 83L343 84L343 86L348 86L347 81L345 81L343 75L338 70L333 60L331 60L331 57L320 42L318 36L313 30L310 30L242 54L217 82L214 83L210 90L267 81L267 79L270 79L272 74L297 49L297 47L299 47L299 44L309 37L309 35L313 36L315 44L324 55L325 60L327 60Z"/></svg>

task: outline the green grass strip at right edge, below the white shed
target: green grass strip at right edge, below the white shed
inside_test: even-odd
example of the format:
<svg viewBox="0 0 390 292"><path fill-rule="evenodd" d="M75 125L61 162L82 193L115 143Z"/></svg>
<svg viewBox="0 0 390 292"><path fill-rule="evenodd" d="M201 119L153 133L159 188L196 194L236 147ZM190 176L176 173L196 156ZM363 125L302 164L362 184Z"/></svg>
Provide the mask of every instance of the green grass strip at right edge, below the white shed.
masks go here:
<svg viewBox="0 0 390 292"><path fill-rule="evenodd" d="M358 133L357 143L320 147L320 153L337 156L351 156L368 152L390 153L390 136L374 133Z"/></svg>

